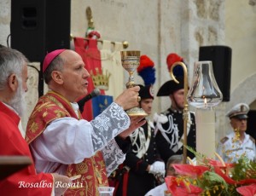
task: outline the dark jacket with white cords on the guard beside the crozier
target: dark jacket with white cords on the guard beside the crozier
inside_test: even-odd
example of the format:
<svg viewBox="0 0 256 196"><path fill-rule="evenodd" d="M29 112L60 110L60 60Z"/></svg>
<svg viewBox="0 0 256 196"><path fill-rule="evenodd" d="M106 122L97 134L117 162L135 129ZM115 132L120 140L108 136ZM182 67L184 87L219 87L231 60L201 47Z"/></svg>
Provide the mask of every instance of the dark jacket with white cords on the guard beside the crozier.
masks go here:
<svg viewBox="0 0 256 196"><path fill-rule="evenodd" d="M157 130L155 141L160 157L167 162L173 154L183 154L183 112L169 108L162 112L159 118L154 118ZM187 145L195 149L195 113L189 112L187 124ZM187 156L193 159L195 155L187 151Z"/></svg>

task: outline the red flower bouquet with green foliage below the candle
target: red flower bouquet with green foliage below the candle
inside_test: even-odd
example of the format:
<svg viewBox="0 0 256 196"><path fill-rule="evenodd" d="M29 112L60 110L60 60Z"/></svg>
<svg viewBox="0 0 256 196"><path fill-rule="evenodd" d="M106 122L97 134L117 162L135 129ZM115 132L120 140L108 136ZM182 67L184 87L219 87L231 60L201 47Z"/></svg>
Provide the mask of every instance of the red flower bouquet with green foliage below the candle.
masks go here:
<svg viewBox="0 0 256 196"><path fill-rule="evenodd" d="M166 177L166 186L172 195L256 195L256 163L241 157L236 164L228 164L218 154L220 161L193 153L200 165L172 165L178 174Z"/></svg>

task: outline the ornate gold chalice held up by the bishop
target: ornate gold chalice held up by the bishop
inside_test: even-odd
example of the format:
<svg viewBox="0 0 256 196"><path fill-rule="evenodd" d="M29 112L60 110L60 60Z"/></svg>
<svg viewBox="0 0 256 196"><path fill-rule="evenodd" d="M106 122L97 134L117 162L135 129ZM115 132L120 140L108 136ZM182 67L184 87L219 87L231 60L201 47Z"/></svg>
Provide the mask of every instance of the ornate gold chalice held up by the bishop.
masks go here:
<svg viewBox="0 0 256 196"><path fill-rule="evenodd" d="M126 83L126 88L129 89L131 87L137 86L134 82L133 73L137 69L137 66L140 64L141 52L137 50L132 51L121 51L121 61L122 66L125 68L127 72L129 72L129 81ZM138 99L140 101L140 97ZM146 113L142 108L133 107L126 111L130 117L146 117L148 113Z"/></svg>

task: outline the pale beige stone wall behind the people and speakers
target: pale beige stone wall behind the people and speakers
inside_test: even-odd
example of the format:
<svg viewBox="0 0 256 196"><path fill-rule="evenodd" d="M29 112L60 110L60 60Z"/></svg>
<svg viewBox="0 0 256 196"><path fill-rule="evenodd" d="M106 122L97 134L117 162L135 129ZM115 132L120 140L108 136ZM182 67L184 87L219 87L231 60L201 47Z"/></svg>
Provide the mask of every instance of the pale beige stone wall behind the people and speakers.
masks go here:
<svg viewBox="0 0 256 196"><path fill-rule="evenodd" d="M236 102L251 104L256 99L252 93L253 84L256 84L256 66L253 65L256 61L256 6L249 5L249 1L72 0L71 32L74 36L84 37L88 6L102 39L126 40L128 49L139 49L152 58L157 70L156 92L170 79L166 72L166 55L175 52L184 57L191 83L200 46L228 45L232 48L231 101L216 107L217 141L228 132L229 124L224 113ZM10 0L1 0L0 44L7 45L9 23ZM30 74L28 84L32 88L26 96L29 112L38 98L38 75L32 70ZM141 78L136 79L142 82ZM167 107L170 107L169 98L154 100L155 112ZM26 118L24 121L26 124Z"/></svg>

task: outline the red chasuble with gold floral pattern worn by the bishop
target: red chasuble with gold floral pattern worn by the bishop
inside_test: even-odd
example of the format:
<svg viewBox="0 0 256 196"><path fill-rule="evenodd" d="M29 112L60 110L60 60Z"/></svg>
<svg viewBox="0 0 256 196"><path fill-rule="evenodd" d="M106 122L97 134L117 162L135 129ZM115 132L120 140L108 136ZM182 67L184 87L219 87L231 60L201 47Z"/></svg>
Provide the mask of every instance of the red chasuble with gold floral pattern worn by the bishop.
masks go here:
<svg viewBox="0 0 256 196"><path fill-rule="evenodd" d="M31 143L40 135L45 127L53 120L63 117L77 118L70 102L63 96L53 91L39 98L38 103L29 118L26 129L26 141ZM79 114L79 118L81 115ZM57 140L58 138L56 138ZM56 141L57 143L58 141ZM84 144L86 145L86 144ZM82 187L71 187L65 195L99 195L97 187L108 186L107 171L99 151L90 159L84 159L79 164L70 164L67 168L67 176L82 175L78 180L73 181L75 184L82 184Z"/></svg>

